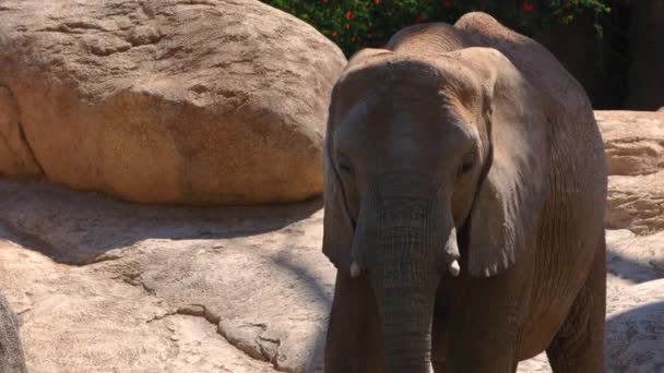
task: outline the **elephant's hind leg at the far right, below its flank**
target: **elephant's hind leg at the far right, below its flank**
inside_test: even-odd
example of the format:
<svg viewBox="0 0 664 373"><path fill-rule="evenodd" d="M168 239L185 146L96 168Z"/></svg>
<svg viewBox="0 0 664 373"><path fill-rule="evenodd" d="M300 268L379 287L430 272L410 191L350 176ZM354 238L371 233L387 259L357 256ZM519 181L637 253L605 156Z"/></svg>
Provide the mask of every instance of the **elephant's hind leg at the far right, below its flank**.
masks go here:
<svg viewBox="0 0 664 373"><path fill-rule="evenodd" d="M593 269L546 349L555 373L604 372L606 253L604 239Z"/></svg>

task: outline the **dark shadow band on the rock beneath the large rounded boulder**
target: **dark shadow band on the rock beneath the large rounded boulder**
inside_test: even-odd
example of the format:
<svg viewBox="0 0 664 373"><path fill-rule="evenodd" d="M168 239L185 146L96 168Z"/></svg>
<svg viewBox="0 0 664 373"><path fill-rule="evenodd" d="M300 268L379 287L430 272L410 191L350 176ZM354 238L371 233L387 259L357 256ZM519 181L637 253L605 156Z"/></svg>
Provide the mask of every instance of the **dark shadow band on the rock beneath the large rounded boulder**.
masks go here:
<svg viewBox="0 0 664 373"><path fill-rule="evenodd" d="M320 198L290 205L185 207L140 205L52 184L0 180L0 222L21 240L66 264L94 263L104 253L145 239L232 239L303 220Z"/></svg>

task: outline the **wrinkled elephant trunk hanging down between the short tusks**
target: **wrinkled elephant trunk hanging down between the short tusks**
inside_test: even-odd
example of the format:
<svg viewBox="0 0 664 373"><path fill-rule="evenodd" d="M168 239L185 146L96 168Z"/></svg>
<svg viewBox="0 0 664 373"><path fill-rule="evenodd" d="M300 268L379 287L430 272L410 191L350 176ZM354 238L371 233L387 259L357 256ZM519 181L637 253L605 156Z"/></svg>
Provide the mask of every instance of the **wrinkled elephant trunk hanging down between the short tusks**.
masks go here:
<svg viewBox="0 0 664 373"><path fill-rule="evenodd" d="M429 214L418 214L426 210L427 200L383 202L379 254L369 273L382 323L386 371L428 373L443 242Z"/></svg>

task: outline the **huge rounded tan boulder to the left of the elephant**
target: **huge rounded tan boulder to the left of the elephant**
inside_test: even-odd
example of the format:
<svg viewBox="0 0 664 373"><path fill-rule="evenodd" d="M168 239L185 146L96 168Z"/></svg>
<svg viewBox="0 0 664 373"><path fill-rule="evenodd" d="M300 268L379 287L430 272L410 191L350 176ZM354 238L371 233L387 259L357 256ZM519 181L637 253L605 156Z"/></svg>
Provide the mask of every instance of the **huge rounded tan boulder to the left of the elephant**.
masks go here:
<svg viewBox="0 0 664 373"><path fill-rule="evenodd" d="M341 50L256 0L0 5L0 175L130 201L322 191Z"/></svg>

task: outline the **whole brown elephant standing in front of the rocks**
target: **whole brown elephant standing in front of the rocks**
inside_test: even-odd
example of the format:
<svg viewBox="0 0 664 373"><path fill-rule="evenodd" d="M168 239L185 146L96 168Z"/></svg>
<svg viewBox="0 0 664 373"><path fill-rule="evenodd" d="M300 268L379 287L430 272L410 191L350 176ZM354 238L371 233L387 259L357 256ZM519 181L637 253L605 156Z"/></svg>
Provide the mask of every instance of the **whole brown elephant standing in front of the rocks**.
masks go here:
<svg viewBox="0 0 664 373"><path fill-rule="evenodd" d="M604 146L540 44L474 12L356 52L323 163L325 372L605 370Z"/></svg>

